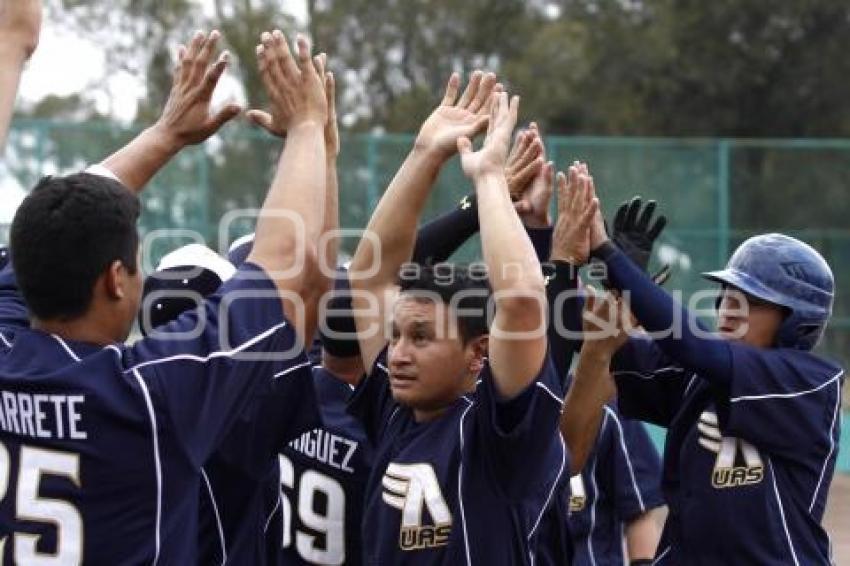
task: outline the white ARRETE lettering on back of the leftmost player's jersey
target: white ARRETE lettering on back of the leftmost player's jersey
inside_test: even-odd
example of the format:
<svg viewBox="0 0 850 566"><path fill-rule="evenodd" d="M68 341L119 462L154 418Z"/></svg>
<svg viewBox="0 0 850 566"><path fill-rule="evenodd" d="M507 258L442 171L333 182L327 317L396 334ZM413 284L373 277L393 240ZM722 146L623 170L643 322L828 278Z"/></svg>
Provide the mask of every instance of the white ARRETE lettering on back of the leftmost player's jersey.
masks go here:
<svg viewBox="0 0 850 566"><path fill-rule="evenodd" d="M31 438L86 440L80 430L83 395L0 392L0 429Z"/></svg>

